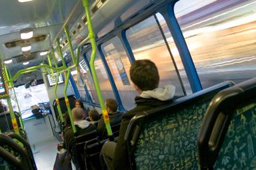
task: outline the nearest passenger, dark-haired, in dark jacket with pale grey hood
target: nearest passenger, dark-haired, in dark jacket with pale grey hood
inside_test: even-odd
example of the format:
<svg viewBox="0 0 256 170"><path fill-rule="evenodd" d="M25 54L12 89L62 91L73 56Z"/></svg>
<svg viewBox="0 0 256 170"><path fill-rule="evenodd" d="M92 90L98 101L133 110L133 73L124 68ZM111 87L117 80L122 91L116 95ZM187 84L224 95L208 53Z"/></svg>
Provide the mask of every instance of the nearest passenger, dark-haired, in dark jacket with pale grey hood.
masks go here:
<svg viewBox="0 0 256 170"><path fill-rule="evenodd" d="M159 85L159 73L155 63L148 59L137 60L131 65L130 77L135 90L140 94L135 97L136 107L123 114L117 143L107 142L101 150L101 163L105 161L109 169L129 169L127 143L124 139L129 121L136 113L147 111L170 102L175 95L173 85Z"/></svg>

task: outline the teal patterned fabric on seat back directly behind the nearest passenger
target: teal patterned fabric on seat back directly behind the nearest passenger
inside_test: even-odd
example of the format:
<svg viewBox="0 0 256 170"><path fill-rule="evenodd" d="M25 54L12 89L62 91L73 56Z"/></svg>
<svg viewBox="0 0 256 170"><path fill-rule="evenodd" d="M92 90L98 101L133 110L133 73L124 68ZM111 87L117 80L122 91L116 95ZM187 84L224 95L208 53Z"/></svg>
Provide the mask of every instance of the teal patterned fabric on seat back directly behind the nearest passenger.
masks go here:
<svg viewBox="0 0 256 170"><path fill-rule="evenodd" d="M198 169L197 135L210 100L147 119L135 147L137 169Z"/></svg>

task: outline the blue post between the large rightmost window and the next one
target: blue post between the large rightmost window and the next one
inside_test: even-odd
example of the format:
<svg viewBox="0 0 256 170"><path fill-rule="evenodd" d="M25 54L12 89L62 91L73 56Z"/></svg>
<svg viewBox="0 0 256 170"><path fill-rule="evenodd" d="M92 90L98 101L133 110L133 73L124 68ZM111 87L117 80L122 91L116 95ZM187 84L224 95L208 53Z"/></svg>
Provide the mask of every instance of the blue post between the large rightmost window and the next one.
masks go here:
<svg viewBox="0 0 256 170"><path fill-rule="evenodd" d="M195 69L193 59L189 53L187 43L183 37L183 33L175 17L174 5L175 5L175 2L171 2L169 5L163 7L159 12L165 18L165 21L169 27L169 30L171 31L171 35L173 36L175 45L179 51L179 55L181 56L181 61L184 65L187 78L189 79L191 89L193 93L195 93L197 91L201 91L202 86L199 80L199 76L197 75L197 71Z"/></svg>

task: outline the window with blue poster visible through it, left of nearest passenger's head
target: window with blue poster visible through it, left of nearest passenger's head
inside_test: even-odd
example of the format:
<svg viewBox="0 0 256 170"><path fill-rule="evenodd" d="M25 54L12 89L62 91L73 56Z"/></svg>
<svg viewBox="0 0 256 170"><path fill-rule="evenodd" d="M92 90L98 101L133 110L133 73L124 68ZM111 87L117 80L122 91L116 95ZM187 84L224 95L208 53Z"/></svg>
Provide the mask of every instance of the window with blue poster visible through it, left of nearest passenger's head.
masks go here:
<svg viewBox="0 0 256 170"><path fill-rule="evenodd" d="M106 43L103 43L102 49L107 65L117 85L123 107L125 107L126 110L131 110L135 107L134 98L138 94L133 88L129 77L131 63L125 53L125 49L118 37L114 37Z"/></svg>

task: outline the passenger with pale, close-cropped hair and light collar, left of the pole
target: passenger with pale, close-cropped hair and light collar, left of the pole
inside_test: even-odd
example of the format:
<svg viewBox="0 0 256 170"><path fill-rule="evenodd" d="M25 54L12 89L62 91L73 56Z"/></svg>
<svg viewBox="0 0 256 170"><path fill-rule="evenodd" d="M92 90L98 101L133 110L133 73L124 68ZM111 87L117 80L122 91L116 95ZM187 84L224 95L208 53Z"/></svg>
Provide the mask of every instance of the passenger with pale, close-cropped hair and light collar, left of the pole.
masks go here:
<svg viewBox="0 0 256 170"><path fill-rule="evenodd" d="M73 121L75 124L75 128L77 130L76 135L83 135L85 133L89 133L96 129L95 125L89 123L89 121L83 119L85 115L85 111L79 107L75 107L72 109ZM75 155L73 152L75 146L75 135L73 133L73 129L69 127L64 133L64 145L67 151L71 153L71 155ZM76 160L73 159L73 163L77 167Z"/></svg>

